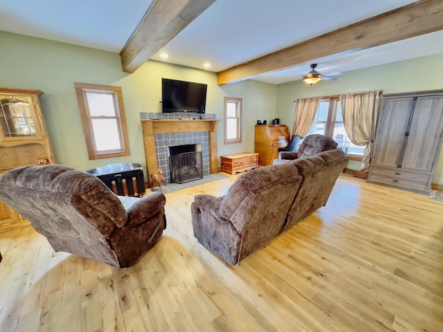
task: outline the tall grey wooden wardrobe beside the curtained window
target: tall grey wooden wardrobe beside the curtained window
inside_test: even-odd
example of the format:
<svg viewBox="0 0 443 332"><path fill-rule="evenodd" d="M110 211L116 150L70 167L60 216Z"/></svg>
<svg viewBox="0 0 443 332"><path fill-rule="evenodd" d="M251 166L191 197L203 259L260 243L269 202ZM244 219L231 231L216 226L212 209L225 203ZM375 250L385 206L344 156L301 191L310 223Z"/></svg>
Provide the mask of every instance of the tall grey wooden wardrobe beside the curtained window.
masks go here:
<svg viewBox="0 0 443 332"><path fill-rule="evenodd" d="M443 91L383 95L368 182L427 194L442 136Z"/></svg>

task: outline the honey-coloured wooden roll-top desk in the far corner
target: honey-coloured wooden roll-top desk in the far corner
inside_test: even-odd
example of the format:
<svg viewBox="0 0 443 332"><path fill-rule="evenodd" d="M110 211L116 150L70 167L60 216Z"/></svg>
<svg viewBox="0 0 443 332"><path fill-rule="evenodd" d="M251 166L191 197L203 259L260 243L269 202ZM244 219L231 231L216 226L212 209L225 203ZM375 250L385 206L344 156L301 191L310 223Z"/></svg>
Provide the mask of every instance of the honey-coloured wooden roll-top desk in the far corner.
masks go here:
<svg viewBox="0 0 443 332"><path fill-rule="evenodd" d="M271 165L277 158L278 148L287 147L289 130L284 124L257 124L255 126L255 152L259 154L258 164Z"/></svg>

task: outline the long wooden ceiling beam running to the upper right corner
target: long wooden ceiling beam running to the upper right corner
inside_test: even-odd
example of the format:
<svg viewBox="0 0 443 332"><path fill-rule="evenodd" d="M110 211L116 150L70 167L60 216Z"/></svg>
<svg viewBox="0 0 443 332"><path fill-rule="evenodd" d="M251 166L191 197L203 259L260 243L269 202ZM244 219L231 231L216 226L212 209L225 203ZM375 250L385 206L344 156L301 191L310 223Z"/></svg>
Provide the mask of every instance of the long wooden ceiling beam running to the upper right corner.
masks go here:
<svg viewBox="0 0 443 332"><path fill-rule="evenodd" d="M443 1L422 0L217 73L217 84L310 64L315 59L380 46L443 29Z"/></svg>

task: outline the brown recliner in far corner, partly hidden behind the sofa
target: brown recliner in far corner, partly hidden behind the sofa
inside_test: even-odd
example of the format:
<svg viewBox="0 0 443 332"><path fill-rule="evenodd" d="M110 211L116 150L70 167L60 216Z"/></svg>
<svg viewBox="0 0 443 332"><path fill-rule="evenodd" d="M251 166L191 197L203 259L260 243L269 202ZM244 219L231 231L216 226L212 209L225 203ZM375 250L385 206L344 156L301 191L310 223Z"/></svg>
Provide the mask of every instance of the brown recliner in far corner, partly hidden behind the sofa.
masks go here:
<svg viewBox="0 0 443 332"><path fill-rule="evenodd" d="M297 152L280 151L278 152L278 158L273 160L273 165L280 165L284 163L291 163L297 158L312 157L316 154L336 149L337 143L330 137L320 135L318 133L314 135L308 135L305 140L301 142Z"/></svg>

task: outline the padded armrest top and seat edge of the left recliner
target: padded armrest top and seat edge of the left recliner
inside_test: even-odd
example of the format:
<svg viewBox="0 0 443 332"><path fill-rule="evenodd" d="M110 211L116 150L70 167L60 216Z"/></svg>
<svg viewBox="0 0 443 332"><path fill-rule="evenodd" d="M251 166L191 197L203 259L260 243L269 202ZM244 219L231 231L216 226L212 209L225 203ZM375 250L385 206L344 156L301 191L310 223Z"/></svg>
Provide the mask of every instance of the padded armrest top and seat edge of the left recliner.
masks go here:
<svg viewBox="0 0 443 332"><path fill-rule="evenodd" d="M161 192L152 192L141 198L118 196L127 211L128 225L138 225L165 207L166 197Z"/></svg>

